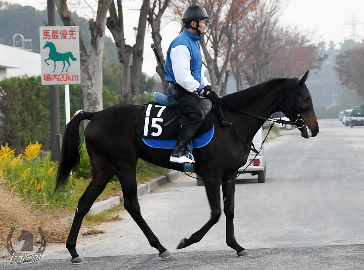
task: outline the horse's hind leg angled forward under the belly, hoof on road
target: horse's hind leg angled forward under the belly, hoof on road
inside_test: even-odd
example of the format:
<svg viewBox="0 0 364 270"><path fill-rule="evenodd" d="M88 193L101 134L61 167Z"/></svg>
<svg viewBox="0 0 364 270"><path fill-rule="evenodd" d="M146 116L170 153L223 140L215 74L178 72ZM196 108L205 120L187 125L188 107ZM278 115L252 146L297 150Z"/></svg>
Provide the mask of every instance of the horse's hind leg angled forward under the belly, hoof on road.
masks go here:
<svg viewBox="0 0 364 270"><path fill-rule="evenodd" d="M124 196L124 208L128 211L130 216L137 222L139 228L147 237L149 244L159 251L159 257L168 259L172 254L159 242L157 236L149 228L147 222L142 217L140 206L138 202L138 189L135 168L124 169L116 174L118 177Z"/></svg>

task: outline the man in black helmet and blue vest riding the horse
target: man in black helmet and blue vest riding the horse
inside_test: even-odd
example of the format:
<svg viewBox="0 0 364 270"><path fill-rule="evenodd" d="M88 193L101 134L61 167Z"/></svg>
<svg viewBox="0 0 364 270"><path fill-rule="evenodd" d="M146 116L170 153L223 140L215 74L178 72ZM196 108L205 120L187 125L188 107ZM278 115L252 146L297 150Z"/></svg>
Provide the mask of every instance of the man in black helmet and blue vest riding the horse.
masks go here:
<svg viewBox="0 0 364 270"><path fill-rule="evenodd" d="M171 153L172 163L194 163L193 157L185 156L187 144L201 127L205 114L194 98L194 93L209 98L216 94L204 76L202 55L198 41L205 31L205 20L210 17L200 5L190 5L183 12L185 30L176 37L167 51L166 80L176 100L175 107L189 119L182 127L177 143Z"/></svg>

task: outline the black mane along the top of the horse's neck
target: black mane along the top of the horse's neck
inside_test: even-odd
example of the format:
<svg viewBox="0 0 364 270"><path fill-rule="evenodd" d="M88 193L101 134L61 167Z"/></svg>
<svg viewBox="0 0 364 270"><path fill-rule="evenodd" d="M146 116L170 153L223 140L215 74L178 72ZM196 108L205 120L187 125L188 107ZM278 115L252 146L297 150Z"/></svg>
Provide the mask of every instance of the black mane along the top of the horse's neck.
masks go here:
<svg viewBox="0 0 364 270"><path fill-rule="evenodd" d="M235 108L243 108L284 81L286 81L286 78L271 79L270 81L226 95L220 98L219 101Z"/></svg>

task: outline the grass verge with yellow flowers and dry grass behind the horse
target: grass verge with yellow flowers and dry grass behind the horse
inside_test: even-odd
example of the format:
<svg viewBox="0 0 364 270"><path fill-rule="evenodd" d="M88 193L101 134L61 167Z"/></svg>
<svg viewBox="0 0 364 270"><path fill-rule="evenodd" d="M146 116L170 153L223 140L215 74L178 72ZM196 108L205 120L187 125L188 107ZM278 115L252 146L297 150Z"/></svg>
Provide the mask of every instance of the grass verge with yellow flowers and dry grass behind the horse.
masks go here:
<svg viewBox="0 0 364 270"><path fill-rule="evenodd" d="M87 152L84 151L86 154L79 170L82 176L76 171L64 190L53 194L58 164L50 161L50 156L46 154L40 159L40 148L41 144L30 143L24 156L15 157L13 150L1 146L0 251L6 247L13 226L16 228L12 237L13 244L16 244L17 237L21 235L20 230L28 230L35 237L34 242L40 243L38 226L42 228L48 244L65 242L78 199L91 181L91 165ZM137 181L144 183L167 172L168 169L139 160ZM120 194L120 183L114 179L106 185L97 201ZM101 222L121 220L118 213L123 209L123 205L118 205L100 214L87 214L81 229L85 230ZM5 253L8 255L7 251Z"/></svg>

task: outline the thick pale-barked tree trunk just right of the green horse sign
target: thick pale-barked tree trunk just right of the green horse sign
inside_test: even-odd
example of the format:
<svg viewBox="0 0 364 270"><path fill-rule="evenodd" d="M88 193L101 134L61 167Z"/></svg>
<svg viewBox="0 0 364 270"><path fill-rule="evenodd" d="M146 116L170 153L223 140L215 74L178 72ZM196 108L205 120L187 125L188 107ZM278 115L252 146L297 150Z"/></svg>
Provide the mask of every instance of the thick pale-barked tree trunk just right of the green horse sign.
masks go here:
<svg viewBox="0 0 364 270"><path fill-rule="evenodd" d="M90 52L87 54L80 34L81 88L83 109L100 111L102 105L102 57L105 42L107 10L112 0L99 0L96 20L88 20L91 32ZM76 25L67 6L67 0L56 0L59 16L64 25Z"/></svg>

